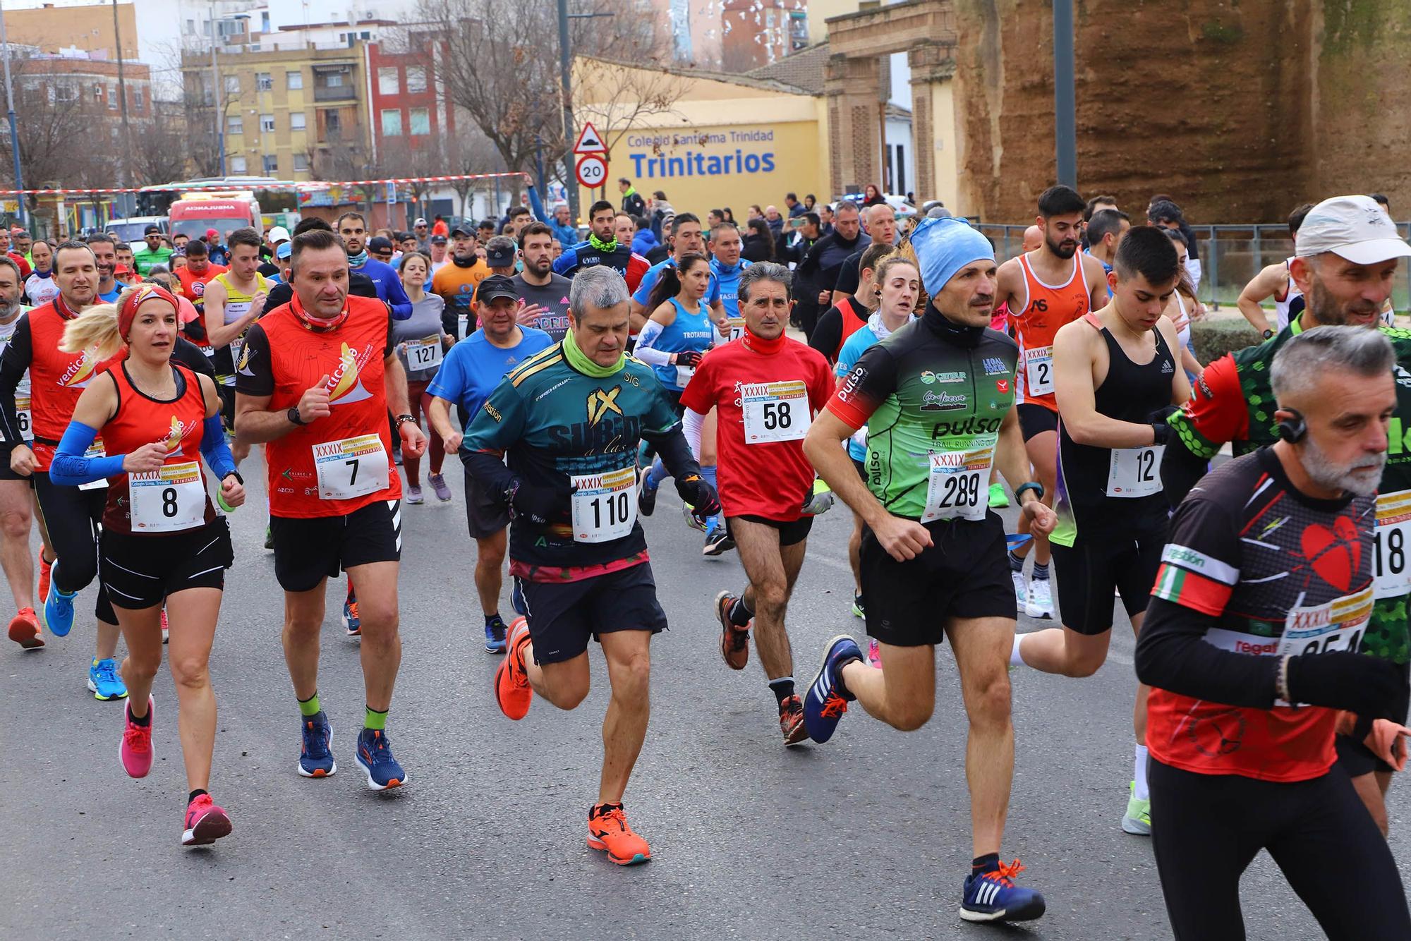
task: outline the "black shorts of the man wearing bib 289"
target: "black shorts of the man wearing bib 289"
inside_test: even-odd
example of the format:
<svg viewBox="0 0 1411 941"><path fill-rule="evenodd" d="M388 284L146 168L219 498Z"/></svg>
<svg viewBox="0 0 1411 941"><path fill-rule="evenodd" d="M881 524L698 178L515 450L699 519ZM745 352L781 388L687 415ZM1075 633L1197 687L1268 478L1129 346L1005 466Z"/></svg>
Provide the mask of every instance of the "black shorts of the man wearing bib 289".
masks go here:
<svg viewBox="0 0 1411 941"><path fill-rule="evenodd" d="M862 529L862 595L868 636L899 648L937 645L951 618L1016 617L1005 523L985 519L926 523L931 545L916 559L897 561L871 528Z"/></svg>

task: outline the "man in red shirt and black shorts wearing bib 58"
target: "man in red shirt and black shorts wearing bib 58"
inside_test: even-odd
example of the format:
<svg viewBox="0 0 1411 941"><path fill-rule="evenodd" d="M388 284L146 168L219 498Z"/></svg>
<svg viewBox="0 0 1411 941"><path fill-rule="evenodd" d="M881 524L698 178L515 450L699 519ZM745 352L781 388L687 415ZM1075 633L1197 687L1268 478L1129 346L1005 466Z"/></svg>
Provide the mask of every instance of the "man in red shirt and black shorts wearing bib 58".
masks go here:
<svg viewBox="0 0 1411 941"><path fill-rule="evenodd" d="M814 498L813 464L803 439L832 396L832 372L817 350L785 336L793 299L789 269L759 262L739 275L745 336L710 351L682 394L686 437L700 453L701 423L717 409L720 502L739 547L749 584L737 597L715 595L720 652L734 670L749 662L749 625L779 703L785 745L809 735L794 694L793 650L785 609L809 546L813 514L831 506Z"/></svg>

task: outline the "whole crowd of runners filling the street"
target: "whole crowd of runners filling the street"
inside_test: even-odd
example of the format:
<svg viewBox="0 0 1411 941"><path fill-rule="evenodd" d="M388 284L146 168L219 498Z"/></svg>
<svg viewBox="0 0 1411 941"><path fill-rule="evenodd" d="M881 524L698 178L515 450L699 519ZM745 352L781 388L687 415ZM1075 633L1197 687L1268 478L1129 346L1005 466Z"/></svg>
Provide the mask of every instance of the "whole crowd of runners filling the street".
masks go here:
<svg viewBox="0 0 1411 941"><path fill-rule="evenodd" d="M251 450L267 505L244 512L268 519L285 600L289 758L298 707L298 775L333 775L351 745L374 790L416 772L388 736L405 506L425 501L423 457L436 499L456 499L459 459L501 711L579 707L601 646L587 845L612 862L652 858L625 800L669 622L718 624L732 670L753 648L789 748L827 743L852 704L920 729L948 642L968 722L959 917L1040 917L1000 855L1010 686L1092 676L1120 604L1139 639L1112 827L1151 838L1177 937L1243 937L1239 878L1260 849L1331 937L1411 937L1386 841L1411 734L1411 332L1388 326L1411 245L1384 203L1300 206L1294 255L1240 298L1264 341L1202 365L1197 244L1164 196L1133 223L1053 186L1000 264L938 205L899 224L882 199L790 195L787 219L752 209L742 234L729 210L649 217L622 190L588 207L586 238L566 209L525 207L444 233L344 213L181 245L154 227L137 253L16 233L0 253L8 636L69 636L97 581L87 688L123 701L127 775L179 741L183 845L233 832L210 793L207 660L224 573L248 563L226 515ZM667 480L700 552L744 569L710 611L658 601L639 518ZM859 629L799 652L821 656L804 672L789 602L838 501L854 577L838 617ZM365 712L336 736L319 635L341 574ZM1016 633L1020 609L1051 626ZM164 645L176 703L158 710Z"/></svg>

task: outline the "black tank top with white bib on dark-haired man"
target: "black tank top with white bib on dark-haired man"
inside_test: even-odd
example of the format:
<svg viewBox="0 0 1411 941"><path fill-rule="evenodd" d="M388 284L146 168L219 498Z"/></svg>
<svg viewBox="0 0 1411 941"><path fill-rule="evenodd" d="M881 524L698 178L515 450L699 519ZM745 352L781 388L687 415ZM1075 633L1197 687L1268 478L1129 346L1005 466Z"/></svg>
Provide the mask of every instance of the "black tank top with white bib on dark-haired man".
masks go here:
<svg viewBox="0 0 1411 941"><path fill-rule="evenodd" d="M1137 364L1127 358L1122 344L1096 315L1089 313L1084 320L1101 330L1108 344L1108 375L1092 396L1098 413L1120 422L1150 423L1153 412L1171 403L1171 380L1178 368L1165 337L1153 329L1156 356L1150 363ZM1120 449L1115 461L1110 447L1074 442L1062 423L1062 413L1058 415L1058 494L1054 508L1060 523L1054 538L1060 545L1071 545L1071 540L1064 540L1064 530L1079 523L1084 532L1095 528L1125 529L1133 522L1164 525L1167 502L1160 481L1160 449Z"/></svg>

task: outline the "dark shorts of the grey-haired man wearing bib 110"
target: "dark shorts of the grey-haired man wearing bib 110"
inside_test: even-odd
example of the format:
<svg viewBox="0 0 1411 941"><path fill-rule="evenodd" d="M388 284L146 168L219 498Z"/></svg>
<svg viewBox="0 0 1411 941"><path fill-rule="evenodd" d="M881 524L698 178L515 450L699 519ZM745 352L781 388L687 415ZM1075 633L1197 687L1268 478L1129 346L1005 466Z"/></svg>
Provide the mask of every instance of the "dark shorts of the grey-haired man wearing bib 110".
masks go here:
<svg viewBox="0 0 1411 941"><path fill-rule="evenodd" d="M666 612L656 601L652 563L579 581L525 581L529 638L535 663L563 663L614 631L666 629Z"/></svg>

